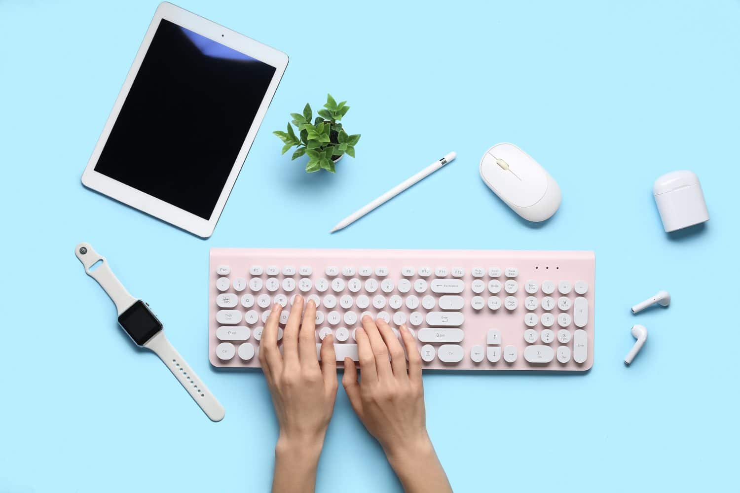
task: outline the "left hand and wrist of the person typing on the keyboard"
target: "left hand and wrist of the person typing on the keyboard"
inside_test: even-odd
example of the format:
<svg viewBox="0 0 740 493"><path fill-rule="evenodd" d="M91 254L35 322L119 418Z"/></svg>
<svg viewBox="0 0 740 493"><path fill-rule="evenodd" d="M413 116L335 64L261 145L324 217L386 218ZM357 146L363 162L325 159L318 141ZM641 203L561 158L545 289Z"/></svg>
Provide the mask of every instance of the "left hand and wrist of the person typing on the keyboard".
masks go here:
<svg viewBox="0 0 740 493"><path fill-rule="evenodd" d="M332 336L321 344L319 366L314 335L316 305L309 300L303 324L303 296L295 296L277 347L283 307L272 307L260 341L260 364L275 407L280 434L275 446L273 492L313 491L316 467L337 397L337 363Z"/></svg>

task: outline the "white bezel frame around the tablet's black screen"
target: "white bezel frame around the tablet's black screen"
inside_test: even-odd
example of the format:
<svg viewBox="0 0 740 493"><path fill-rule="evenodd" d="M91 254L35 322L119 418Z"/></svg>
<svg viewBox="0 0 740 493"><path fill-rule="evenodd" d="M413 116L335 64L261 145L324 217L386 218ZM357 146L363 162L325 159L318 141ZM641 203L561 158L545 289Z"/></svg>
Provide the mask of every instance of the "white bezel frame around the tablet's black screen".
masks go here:
<svg viewBox="0 0 740 493"><path fill-rule="evenodd" d="M141 61L144 60L144 55L146 55L147 50L149 50L149 44L152 42L152 37L159 26L159 22L163 18L177 24L178 26L189 29L205 36L206 38L210 38L221 43L226 47L243 52L252 58L256 58L259 61L263 61L264 63L275 67L275 75L272 76L272 81L270 81L262 103L257 111L257 115L255 115L255 120L252 122L252 126L244 139L239 154L232 166L232 170L229 173L229 177L226 180L226 184L221 190L221 195L218 197L218 202L213 208L211 217L207 220L95 171L95 165L98 163L98 158L108 140L113 124L115 123L115 120L118 119L118 113L121 111L121 106L123 106L124 101L126 101L129 89L131 89L131 84L138 73L139 67L141 67ZM218 218L221 216L223 206L226 205L226 200L229 198L232 187L234 186L239 175L239 171L246 159L246 154L249 152L249 147L252 146L252 142L255 140L257 130L262 123L270 101L272 101L272 97L275 95L277 84L280 83L280 78L283 77L283 72L285 72L287 65L288 55L285 53L266 46L265 44L261 44L252 38L247 38L245 35L235 33L234 31L226 29L208 19L196 16L194 13L181 9L176 5L162 2L159 4L159 7L157 7L157 11L152 19L152 24L149 24L147 34L144 35L144 41L141 42L141 47L139 47L139 50L136 53L136 58L134 58L131 69L129 69L129 73L126 76L121 92L115 100L113 109L103 127L103 132L98 139L98 143L95 144L95 149L92 151L90 160L87 162L87 167L82 174L82 184L87 188L92 188L92 190L99 191L101 194L105 194L108 197L112 197L115 200L130 205L133 208L137 208L140 211L144 211L147 214L178 226L178 228L183 228L199 237L207 238L211 236L213 229L216 226L216 222L218 222Z"/></svg>

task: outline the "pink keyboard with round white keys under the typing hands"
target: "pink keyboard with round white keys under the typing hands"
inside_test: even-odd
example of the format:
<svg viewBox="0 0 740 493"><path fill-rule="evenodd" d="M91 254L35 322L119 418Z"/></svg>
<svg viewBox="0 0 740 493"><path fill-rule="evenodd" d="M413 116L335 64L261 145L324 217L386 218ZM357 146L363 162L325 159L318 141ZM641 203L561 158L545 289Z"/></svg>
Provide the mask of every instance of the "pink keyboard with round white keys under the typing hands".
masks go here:
<svg viewBox="0 0 740 493"><path fill-rule="evenodd" d="M332 333L340 366L357 360L369 313L406 324L426 370L585 371L594 268L591 251L212 248L209 359L259 367L270 308L286 307L282 327L300 293L317 305L317 346Z"/></svg>

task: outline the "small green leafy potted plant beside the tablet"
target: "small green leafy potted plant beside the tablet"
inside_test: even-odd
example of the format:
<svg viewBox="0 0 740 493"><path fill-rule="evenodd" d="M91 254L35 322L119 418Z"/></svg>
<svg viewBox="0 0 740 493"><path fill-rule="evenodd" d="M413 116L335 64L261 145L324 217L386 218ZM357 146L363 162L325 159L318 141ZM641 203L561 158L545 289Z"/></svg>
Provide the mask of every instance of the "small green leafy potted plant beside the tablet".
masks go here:
<svg viewBox="0 0 740 493"><path fill-rule="evenodd" d="M314 173L320 169L326 169L335 173L334 163L337 163L344 154L354 157L354 146L360 140L360 135L347 135L342 127L340 120L349 111L346 101L337 104L332 95L326 95L326 104L323 109L318 111L318 116L311 123L313 112L311 105L306 103L303 108L303 115L300 113L291 113L293 117L292 124L298 129L295 130L288 123L287 132L277 130L272 132L285 143L283 154L288 152L293 146L297 146L291 160L307 154L309 163L306 164L306 172Z"/></svg>

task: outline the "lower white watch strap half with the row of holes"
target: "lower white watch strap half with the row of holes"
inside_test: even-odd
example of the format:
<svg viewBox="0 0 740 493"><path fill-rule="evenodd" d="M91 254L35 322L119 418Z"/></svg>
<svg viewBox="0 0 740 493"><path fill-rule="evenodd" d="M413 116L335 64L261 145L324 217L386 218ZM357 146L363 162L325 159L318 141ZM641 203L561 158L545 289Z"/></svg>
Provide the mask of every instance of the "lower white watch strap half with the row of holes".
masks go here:
<svg viewBox="0 0 740 493"><path fill-rule="evenodd" d="M169 344L164 331L160 330L152 339L144 343L144 347L152 350L164 362L172 375L185 387L192 400L203 409L211 421L221 421L223 419L223 406L216 400L213 394L208 390L206 384L203 384L198 375L186 363L180 353Z"/></svg>

